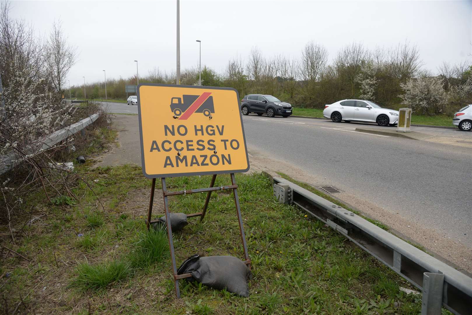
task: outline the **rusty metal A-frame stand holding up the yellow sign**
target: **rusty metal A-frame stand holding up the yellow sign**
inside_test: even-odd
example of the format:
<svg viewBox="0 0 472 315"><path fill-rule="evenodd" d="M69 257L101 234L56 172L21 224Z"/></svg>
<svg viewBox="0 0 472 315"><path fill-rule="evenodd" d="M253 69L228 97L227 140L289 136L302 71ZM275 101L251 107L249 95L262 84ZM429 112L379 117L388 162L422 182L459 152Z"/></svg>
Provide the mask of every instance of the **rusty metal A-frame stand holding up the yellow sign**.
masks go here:
<svg viewBox="0 0 472 315"><path fill-rule="evenodd" d="M237 213L237 218L238 218L238 223L239 223L239 233L241 235L241 242L243 243L243 249L244 249L244 257L245 261L244 264L246 264L249 268L251 268L251 260L249 259L249 255L247 253L247 245L246 245L246 237L244 235L244 227L243 227L243 219L241 217L241 208L239 206L239 198L237 195L237 185L236 185L236 178L235 174L231 173L231 185L229 186L221 186L221 187L214 187L215 185L215 179L216 179L216 174L213 175L211 178L211 184L210 187L208 188L198 188L198 189L189 189L189 190L178 190L178 191L168 191L166 187L166 178L163 177L161 178L162 182L162 195L164 196L164 210L166 213L166 223L167 223L167 235L169 238L169 247L170 247L170 256L172 259L172 272L174 274L174 285L176 289L176 294L177 298L180 298L180 289L178 285L179 279L183 278L189 278L192 275L190 273L184 273L184 274L177 274L177 264L176 264L176 257L175 257L175 252L174 252L174 243L172 240L172 227L170 224L170 212L169 212L169 200L168 196L177 196L177 195L185 195L185 194L194 194L194 193L202 193L202 192L208 192L206 200L205 200L205 205L203 206L202 212L199 213L191 213L187 214L187 217L196 217L200 216L200 222L203 221L203 218L205 217L205 213L208 207L208 203L210 202L210 196L212 191L216 190L228 190L232 189L233 190L233 195L235 198L235 204L236 204L236 213ZM152 223L158 222L159 220L151 220L151 215L152 215L152 203L154 200L154 190L156 187L156 179L152 179L152 186L151 186L151 199L149 201L149 213L148 213L148 218L146 221L147 228L148 230L150 229L150 225Z"/></svg>

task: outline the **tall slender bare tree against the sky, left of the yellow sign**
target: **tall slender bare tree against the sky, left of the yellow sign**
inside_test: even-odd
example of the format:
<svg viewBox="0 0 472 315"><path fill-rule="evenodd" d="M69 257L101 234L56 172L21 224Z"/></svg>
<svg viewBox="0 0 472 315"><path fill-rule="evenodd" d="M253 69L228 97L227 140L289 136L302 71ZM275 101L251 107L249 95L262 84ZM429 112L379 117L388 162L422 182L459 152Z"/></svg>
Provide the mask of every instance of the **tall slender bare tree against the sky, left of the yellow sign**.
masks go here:
<svg viewBox="0 0 472 315"><path fill-rule="evenodd" d="M67 43L62 31L62 22L54 22L51 34L46 41L46 67L54 89L62 94L67 73L77 59L77 47Z"/></svg>

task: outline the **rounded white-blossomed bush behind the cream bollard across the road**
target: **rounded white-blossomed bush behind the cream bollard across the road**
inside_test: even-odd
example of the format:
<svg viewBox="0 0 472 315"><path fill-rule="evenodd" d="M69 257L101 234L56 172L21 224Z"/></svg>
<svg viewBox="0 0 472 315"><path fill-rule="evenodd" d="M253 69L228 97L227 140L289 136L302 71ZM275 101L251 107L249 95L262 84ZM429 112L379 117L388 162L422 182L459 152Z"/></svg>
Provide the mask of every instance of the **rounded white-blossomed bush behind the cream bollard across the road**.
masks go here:
<svg viewBox="0 0 472 315"><path fill-rule="evenodd" d="M398 95L402 104L421 114L441 114L447 103L448 94L440 77L422 75L402 83L404 94Z"/></svg>

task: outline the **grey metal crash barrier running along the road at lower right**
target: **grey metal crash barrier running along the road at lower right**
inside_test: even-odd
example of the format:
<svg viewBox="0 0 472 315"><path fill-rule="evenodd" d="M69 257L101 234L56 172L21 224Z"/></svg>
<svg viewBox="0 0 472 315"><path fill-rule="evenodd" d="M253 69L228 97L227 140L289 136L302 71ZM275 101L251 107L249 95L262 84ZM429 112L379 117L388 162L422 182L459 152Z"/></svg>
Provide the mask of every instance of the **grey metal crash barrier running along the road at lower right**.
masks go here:
<svg viewBox="0 0 472 315"><path fill-rule="evenodd" d="M472 278L311 191L280 177L273 182L279 202L296 204L421 289L421 314L441 314L441 306L471 314Z"/></svg>

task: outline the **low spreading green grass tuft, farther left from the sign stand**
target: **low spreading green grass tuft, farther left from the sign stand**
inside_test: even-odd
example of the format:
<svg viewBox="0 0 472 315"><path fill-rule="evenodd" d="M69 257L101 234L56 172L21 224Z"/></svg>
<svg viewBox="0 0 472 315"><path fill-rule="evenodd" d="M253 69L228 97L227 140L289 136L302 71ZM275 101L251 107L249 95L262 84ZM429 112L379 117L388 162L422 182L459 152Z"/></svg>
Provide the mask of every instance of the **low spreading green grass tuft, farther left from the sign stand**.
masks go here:
<svg viewBox="0 0 472 315"><path fill-rule="evenodd" d="M71 286L85 290L105 288L113 282L125 279L131 272L129 264L118 260L98 265L79 264L76 271L78 276Z"/></svg>

